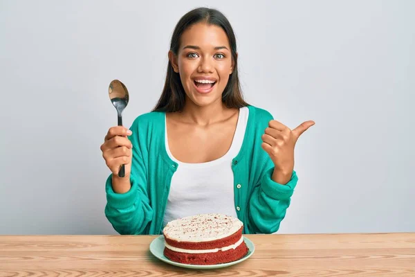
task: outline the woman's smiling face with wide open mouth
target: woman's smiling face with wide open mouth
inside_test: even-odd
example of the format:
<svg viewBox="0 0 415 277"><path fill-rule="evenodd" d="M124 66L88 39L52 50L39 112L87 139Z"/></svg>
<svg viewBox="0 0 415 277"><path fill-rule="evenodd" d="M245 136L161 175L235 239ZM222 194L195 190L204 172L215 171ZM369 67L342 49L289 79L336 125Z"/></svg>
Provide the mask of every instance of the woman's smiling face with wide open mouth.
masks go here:
<svg viewBox="0 0 415 277"><path fill-rule="evenodd" d="M177 56L170 52L169 58L187 100L198 106L221 102L233 70L228 37L221 27L194 24L183 32Z"/></svg>

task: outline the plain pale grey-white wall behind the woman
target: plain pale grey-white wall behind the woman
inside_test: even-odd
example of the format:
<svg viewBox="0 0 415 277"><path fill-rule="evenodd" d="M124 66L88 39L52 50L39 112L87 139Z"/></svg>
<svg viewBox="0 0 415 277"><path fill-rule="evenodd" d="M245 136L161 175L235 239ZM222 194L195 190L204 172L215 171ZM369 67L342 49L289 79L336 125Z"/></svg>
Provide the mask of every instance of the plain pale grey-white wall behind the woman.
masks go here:
<svg viewBox="0 0 415 277"><path fill-rule="evenodd" d="M208 5L206 4L208 3ZM414 1L0 1L0 234L111 234L100 145L156 104L197 6L237 34L252 105L289 127L299 183L279 233L415 231Z"/></svg>

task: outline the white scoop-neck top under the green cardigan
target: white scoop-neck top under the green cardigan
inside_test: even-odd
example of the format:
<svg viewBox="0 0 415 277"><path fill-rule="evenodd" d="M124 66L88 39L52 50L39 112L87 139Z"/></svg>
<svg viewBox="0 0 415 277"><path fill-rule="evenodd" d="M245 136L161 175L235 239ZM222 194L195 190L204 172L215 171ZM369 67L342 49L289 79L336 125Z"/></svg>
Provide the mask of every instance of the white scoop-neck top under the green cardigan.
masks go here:
<svg viewBox="0 0 415 277"><path fill-rule="evenodd" d="M172 177L163 227L171 220L199 213L223 213L237 217L231 165L241 149L248 114L248 107L239 109L230 149L223 157L206 163L182 163L175 159L169 150L165 126L165 147L170 159L178 163L178 168Z"/></svg>

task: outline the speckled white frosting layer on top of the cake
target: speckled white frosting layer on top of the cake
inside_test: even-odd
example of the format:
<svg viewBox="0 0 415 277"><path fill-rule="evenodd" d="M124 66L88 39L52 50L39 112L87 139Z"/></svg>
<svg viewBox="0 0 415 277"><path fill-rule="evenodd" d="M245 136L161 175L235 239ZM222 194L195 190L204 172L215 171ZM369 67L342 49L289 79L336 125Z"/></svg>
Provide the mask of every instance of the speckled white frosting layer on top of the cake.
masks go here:
<svg viewBox="0 0 415 277"><path fill-rule="evenodd" d="M242 226L237 217L208 213L172 220L163 229L163 234L177 242L209 242L226 238Z"/></svg>

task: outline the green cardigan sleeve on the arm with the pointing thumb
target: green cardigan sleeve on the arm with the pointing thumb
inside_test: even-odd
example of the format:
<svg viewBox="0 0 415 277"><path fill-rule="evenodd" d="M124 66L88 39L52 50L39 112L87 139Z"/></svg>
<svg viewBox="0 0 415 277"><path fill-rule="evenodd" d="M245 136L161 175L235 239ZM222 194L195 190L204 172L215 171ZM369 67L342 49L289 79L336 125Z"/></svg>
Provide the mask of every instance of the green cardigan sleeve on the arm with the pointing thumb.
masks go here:
<svg viewBox="0 0 415 277"><path fill-rule="evenodd" d="M261 148L260 136L264 134L264 129L272 119L273 117L267 113L261 120L255 147ZM273 181L271 177L275 166L262 148L261 154L257 156L257 165L259 168L256 171L259 173L255 178L257 181L248 202L248 231L250 233L275 233L291 204L291 196L298 181L297 173L293 170L290 181L285 185Z"/></svg>

